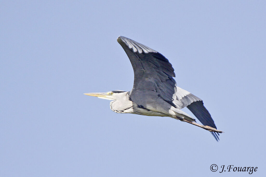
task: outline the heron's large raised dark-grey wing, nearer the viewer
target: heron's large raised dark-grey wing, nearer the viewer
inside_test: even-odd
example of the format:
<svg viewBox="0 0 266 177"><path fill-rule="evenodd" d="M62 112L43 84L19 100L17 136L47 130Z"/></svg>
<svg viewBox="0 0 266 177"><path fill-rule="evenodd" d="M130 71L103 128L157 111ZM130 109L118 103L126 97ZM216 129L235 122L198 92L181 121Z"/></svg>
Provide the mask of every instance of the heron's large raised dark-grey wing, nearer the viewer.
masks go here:
<svg viewBox="0 0 266 177"><path fill-rule="evenodd" d="M130 98L138 105L146 106L162 102L174 105L176 81L174 68L159 52L119 36L118 43L126 52L134 70L134 85L130 91ZM156 107L156 105L154 105Z"/></svg>

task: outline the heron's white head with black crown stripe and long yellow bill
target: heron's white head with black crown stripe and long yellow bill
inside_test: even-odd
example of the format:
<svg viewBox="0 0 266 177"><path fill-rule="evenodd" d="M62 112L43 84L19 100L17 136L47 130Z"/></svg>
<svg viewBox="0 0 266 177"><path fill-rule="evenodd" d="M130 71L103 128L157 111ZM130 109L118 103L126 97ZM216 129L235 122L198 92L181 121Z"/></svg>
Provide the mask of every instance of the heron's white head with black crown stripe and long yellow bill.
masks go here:
<svg viewBox="0 0 266 177"><path fill-rule="evenodd" d="M84 93L85 95L94 96L106 100L118 100L125 91L123 90L113 90L110 92L99 92L99 93Z"/></svg>

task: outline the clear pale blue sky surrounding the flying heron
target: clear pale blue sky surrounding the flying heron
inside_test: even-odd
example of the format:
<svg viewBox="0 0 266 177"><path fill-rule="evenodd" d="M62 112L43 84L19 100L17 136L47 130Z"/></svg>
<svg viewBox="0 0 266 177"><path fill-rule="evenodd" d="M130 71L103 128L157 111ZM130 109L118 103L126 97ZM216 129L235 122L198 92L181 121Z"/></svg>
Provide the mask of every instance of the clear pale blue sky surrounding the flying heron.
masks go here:
<svg viewBox="0 0 266 177"><path fill-rule="evenodd" d="M222 165L265 175L265 11L265 1L1 1L0 176L249 176ZM131 90L119 35L169 59L225 132L219 142L83 94Z"/></svg>

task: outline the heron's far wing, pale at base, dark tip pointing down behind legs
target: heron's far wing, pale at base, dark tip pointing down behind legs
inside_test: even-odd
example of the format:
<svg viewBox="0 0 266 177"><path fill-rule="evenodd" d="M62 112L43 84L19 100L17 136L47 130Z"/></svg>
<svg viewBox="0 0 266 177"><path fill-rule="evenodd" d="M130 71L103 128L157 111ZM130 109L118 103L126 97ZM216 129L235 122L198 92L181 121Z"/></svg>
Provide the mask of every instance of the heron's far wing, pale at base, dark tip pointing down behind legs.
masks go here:
<svg viewBox="0 0 266 177"><path fill-rule="evenodd" d="M214 124L214 120L211 117L209 111L203 105L203 101L193 95L192 93L177 87L176 91L176 99L174 103L178 105L178 107L184 108L187 107L199 120L203 125L207 125L213 128L216 128ZM216 128L217 129L217 128ZM218 141L218 133L211 132L214 138Z"/></svg>

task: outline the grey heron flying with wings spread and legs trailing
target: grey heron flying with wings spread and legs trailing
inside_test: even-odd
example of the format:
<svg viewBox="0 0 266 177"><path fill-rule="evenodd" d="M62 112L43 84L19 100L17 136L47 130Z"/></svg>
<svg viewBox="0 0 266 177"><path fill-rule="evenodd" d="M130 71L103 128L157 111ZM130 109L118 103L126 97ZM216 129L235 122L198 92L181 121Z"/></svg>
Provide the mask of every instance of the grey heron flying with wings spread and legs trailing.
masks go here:
<svg viewBox="0 0 266 177"><path fill-rule="evenodd" d="M116 113L171 117L209 130L218 141L218 133L203 101L177 87L174 68L162 54L127 37L119 36L118 43L126 52L134 70L134 84L130 91L113 90L105 93L84 93L110 102ZM187 107L203 125L181 109Z"/></svg>

